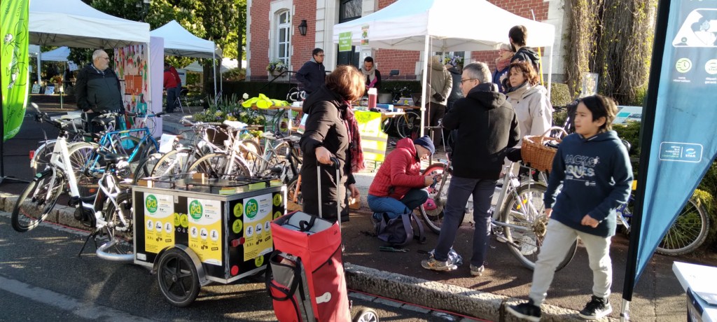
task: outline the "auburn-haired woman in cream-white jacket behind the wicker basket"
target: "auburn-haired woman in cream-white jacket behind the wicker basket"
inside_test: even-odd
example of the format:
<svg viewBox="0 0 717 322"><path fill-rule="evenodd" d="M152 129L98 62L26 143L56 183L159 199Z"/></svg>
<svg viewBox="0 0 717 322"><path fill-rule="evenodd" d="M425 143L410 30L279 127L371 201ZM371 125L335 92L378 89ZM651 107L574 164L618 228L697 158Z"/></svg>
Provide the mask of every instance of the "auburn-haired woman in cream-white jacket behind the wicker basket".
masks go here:
<svg viewBox="0 0 717 322"><path fill-rule="evenodd" d="M533 66L529 62L513 62L508 80L511 88L506 96L516 110L521 137L543 135L552 126L553 107L548 90L538 84Z"/></svg>

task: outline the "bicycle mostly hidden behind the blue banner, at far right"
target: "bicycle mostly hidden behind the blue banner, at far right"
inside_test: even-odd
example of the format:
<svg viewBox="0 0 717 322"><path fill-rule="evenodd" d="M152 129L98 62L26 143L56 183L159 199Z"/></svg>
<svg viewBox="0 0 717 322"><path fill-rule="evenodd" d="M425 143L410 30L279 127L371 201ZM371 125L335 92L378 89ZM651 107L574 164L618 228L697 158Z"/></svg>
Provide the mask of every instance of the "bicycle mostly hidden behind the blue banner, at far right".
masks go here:
<svg viewBox="0 0 717 322"><path fill-rule="evenodd" d="M632 181L632 191L637 189L637 181ZM630 235L630 219L632 219L632 204L635 194L630 194L627 203L617 208L618 224L622 224L623 232ZM684 255L697 250L707 239L710 229L710 217L707 211L690 198L680 210L675 222L665 233L665 237L657 245L655 252L662 255Z"/></svg>

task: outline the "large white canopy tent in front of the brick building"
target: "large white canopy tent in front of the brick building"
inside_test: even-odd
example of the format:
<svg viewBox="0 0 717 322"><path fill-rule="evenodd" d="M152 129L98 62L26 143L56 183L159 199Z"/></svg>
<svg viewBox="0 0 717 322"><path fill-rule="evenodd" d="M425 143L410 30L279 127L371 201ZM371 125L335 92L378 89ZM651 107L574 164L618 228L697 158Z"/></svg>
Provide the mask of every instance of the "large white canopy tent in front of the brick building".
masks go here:
<svg viewBox="0 0 717 322"><path fill-rule="evenodd" d="M427 70L430 52L495 50L508 42L508 31L516 25L530 32L528 46L553 47L552 24L523 18L485 0L398 0L368 16L336 24L333 42L338 43L339 34L351 32L351 43L359 45L362 28L368 26L369 47L423 51L423 70ZM552 56L546 70L551 68ZM551 77L549 72L549 85ZM426 83L424 72L423 88ZM422 114L425 102L421 100Z"/></svg>

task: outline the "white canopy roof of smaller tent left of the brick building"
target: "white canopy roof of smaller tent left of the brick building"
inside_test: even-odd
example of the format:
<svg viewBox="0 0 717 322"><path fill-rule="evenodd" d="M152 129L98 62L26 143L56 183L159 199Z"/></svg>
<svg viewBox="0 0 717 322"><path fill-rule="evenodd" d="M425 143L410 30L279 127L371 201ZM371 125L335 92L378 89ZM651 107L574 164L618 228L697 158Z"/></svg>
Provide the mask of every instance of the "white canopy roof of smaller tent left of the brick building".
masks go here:
<svg viewBox="0 0 717 322"><path fill-rule="evenodd" d="M222 57L222 49L211 40L201 39L172 20L150 32L152 37L164 39L164 55L197 58Z"/></svg>

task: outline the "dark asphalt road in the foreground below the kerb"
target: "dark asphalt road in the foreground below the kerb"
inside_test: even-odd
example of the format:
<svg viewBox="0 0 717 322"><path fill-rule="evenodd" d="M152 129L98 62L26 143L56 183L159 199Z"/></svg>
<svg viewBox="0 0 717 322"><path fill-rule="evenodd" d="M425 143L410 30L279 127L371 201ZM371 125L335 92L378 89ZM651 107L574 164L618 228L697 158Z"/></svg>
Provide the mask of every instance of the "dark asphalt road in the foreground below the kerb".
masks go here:
<svg viewBox="0 0 717 322"><path fill-rule="evenodd" d="M263 275L208 285L177 308L145 267L101 260L92 245L77 257L85 236L56 224L17 233L0 212L0 321L276 321ZM359 293L351 300L353 315L374 308L382 321L461 320Z"/></svg>

